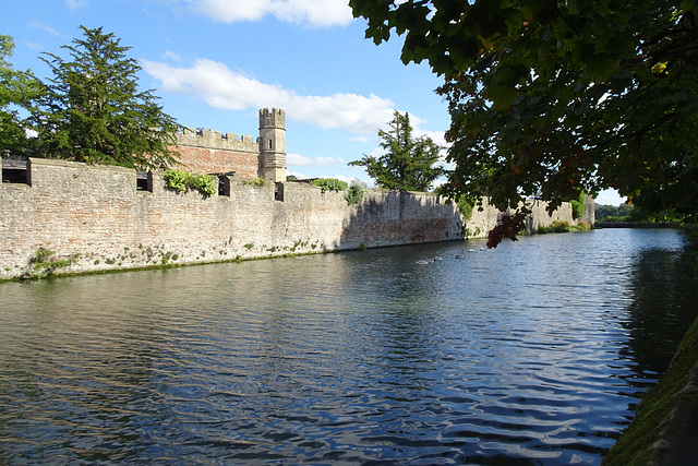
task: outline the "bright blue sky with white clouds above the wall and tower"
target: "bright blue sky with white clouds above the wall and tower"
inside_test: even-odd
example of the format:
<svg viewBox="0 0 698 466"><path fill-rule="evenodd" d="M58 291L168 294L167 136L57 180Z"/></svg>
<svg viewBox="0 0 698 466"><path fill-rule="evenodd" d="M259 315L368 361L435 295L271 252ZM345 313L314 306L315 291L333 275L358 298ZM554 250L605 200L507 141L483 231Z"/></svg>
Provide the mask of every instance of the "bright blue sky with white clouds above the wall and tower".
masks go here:
<svg viewBox="0 0 698 466"><path fill-rule="evenodd" d="M15 40L16 69L50 73L41 52L69 58L62 45L80 25L103 27L132 47L141 85L181 124L258 133L257 110L286 111L289 174L358 179L363 154L395 109L418 135L444 143L449 118L424 64L404 65L401 40L376 47L348 0L23 0L5 2L0 34ZM613 193L597 202L617 205Z"/></svg>

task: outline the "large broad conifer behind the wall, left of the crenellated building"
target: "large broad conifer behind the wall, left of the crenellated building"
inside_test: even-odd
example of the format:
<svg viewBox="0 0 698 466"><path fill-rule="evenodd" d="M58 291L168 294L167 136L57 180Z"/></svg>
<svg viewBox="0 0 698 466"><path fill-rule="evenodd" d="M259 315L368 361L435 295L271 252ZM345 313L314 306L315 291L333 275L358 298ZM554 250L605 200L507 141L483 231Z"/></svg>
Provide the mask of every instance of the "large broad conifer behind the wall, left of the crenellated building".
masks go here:
<svg viewBox="0 0 698 466"><path fill-rule="evenodd" d="M84 38L63 46L72 60L45 53L53 77L33 118L46 157L165 169L177 163L179 128L151 91L139 89L141 67L129 47L101 28L81 26Z"/></svg>

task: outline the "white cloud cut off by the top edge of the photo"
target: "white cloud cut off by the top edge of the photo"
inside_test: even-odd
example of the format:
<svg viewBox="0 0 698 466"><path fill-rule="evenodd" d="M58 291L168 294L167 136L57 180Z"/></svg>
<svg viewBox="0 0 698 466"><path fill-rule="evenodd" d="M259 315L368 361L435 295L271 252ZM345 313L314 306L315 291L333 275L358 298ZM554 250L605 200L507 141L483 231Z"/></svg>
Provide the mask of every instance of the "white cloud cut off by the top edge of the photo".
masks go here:
<svg viewBox="0 0 698 466"><path fill-rule="evenodd" d="M349 24L353 16L347 0L185 0L192 9L214 21L260 21L272 15L279 21L327 27Z"/></svg>

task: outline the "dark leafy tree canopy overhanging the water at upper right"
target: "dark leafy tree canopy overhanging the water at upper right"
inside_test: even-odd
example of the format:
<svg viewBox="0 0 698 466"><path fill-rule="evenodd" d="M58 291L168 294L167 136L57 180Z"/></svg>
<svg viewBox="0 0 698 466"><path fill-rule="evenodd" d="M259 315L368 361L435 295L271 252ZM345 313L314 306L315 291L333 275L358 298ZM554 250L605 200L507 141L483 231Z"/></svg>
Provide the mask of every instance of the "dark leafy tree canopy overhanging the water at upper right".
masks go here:
<svg viewBox="0 0 698 466"><path fill-rule="evenodd" d="M350 5L366 37L380 44L394 29L405 63L428 60L444 76L456 167L447 192L554 210L615 188L636 205L696 216L696 0Z"/></svg>

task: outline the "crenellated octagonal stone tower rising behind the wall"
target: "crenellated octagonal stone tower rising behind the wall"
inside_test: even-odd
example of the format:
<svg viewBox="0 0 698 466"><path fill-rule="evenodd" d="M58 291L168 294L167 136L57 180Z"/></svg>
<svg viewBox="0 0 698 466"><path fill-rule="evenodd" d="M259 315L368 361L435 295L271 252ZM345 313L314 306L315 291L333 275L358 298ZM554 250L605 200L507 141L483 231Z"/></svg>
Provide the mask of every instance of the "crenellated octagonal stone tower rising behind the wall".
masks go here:
<svg viewBox="0 0 698 466"><path fill-rule="evenodd" d="M281 109L260 110L260 158L264 178L286 181L286 113Z"/></svg>

